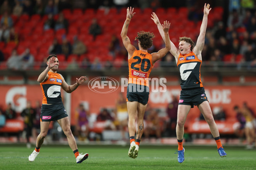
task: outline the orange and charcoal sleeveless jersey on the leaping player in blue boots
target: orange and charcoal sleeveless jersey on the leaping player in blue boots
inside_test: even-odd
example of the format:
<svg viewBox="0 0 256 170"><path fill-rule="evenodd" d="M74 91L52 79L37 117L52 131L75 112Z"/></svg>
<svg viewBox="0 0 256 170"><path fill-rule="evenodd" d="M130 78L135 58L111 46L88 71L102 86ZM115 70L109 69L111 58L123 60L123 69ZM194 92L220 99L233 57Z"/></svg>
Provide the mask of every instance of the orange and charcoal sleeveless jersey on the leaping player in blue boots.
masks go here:
<svg viewBox="0 0 256 170"><path fill-rule="evenodd" d="M198 59L195 53L190 52L186 55L179 55L177 67L180 70L181 89L203 87L201 81L202 60Z"/></svg>

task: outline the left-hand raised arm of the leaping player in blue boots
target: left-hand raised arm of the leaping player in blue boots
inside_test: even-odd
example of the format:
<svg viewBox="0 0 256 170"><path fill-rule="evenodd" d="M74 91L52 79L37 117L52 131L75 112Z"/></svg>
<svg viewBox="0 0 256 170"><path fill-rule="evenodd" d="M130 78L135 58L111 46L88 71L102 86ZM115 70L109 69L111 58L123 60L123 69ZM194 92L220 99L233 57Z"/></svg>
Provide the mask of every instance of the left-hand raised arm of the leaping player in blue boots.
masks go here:
<svg viewBox="0 0 256 170"><path fill-rule="evenodd" d="M152 20L154 21L154 23L157 25L157 28L158 28L158 31L161 35L161 37L163 38L163 40L166 42L165 40L165 36L164 36L164 32L163 32L163 27L162 25L160 24L160 21L157 17L157 15L153 12L153 14L151 14L152 16ZM174 45L174 43L170 40L169 38L169 41L170 41L170 44L171 44L171 49L169 50L170 53L175 57L176 61L179 57L179 54L180 54L180 50L178 48L176 48L176 46Z"/></svg>

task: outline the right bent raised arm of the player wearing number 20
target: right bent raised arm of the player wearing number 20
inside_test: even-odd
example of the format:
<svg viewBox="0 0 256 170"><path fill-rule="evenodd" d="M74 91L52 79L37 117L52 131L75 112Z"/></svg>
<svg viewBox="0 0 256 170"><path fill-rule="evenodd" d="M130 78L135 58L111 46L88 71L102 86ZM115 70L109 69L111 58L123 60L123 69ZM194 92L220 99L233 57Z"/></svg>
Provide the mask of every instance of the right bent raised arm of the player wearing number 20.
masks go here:
<svg viewBox="0 0 256 170"><path fill-rule="evenodd" d="M171 49L171 41L170 38L169 38L169 28L170 28L170 23L169 21L164 21L163 22L163 25L162 25L162 30L163 30L163 33L164 33L164 38L165 38L165 48L159 50L157 53L152 53L152 61L153 61L153 64L158 60L158 59L161 59L163 58L168 52L169 50Z"/></svg>

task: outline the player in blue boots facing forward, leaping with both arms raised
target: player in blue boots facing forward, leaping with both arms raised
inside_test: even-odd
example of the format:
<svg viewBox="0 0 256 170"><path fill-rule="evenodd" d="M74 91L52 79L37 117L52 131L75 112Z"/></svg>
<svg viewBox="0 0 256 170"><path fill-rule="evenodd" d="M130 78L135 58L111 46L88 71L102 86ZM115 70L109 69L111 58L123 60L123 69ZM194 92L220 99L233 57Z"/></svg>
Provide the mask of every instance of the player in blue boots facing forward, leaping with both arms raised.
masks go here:
<svg viewBox="0 0 256 170"><path fill-rule="evenodd" d="M200 28L200 34L198 36L197 43L194 47L194 42L189 37L180 37L179 48L176 48L171 40L170 53L175 57L177 67L180 70L181 77L181 92L180 100L177 112L177 141L178 141L178 162L182 163L184 161L184 147L183 147L183 135L184 135L184 124L186 122L186 117L191 108L194 105L198 106L198 109L203 113L204 119L208 123L212 136L214 137L218 153L221 157L227 156L221 144L220 134L218 127L213 119L212 111L204 91L204 86L201 82L200 68L202 64L201 52L204 48L204 38L207 28L207 17L209 11L209 4L204 4L204 17ZM166 41L163 30L161 29L160 21L157 15L153 12L151 18L163 38ZM194 47L194 48L193 48Z"/></svg>

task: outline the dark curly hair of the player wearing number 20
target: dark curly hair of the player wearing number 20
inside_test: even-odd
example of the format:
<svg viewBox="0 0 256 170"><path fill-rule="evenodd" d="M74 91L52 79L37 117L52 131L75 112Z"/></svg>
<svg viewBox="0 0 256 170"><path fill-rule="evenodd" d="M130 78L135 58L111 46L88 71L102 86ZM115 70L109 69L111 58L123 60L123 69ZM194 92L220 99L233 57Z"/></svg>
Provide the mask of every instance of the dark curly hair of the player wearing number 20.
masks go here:
<svg viewBox="0 0 256 170"><path fill-rule="evenodd" d="M153 40L154 34L151 32L145 32L145 31L140 31L137 33L137 37L135 37L135 40L140 41L140 46L143 48L143 50L147 50L153 45Z"/></svg>

